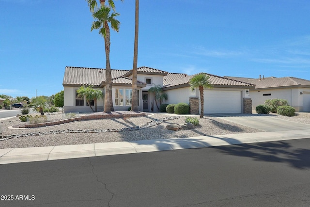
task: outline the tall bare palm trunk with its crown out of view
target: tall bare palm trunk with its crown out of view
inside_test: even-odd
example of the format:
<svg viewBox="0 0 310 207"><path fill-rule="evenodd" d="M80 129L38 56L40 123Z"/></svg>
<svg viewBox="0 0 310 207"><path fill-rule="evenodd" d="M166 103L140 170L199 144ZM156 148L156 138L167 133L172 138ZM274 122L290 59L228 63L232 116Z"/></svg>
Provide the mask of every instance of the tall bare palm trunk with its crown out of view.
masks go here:
<svg viewBox="0 0 310 207"><path fill-rule="evenodd" d="M138 103L136 101L137 100L138 34L139 34L139 0L136 0L134 65L132 67L132 102L131 102L131 111L138 111Z"/></svg>

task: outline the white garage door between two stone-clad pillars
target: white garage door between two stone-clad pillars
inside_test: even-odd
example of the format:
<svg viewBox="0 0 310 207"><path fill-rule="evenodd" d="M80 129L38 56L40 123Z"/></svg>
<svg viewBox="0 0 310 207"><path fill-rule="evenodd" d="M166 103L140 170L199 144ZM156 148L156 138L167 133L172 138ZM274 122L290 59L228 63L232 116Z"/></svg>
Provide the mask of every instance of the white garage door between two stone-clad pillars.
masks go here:
<svg viewBox="0 0 310 207"><path fill-rule="evenodd" d="M241 91L204 90L204 113L241 113Z"/></svg>

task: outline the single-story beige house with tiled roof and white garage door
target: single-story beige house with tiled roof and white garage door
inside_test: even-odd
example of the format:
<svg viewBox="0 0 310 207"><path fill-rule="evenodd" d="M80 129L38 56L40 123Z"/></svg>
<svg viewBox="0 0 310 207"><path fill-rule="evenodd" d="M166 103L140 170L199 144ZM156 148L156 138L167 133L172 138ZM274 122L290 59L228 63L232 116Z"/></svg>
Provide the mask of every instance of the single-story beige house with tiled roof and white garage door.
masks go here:
<svg viewBox="0 0 310 207"><path fill-rule="evenodd" d="M112 99L115 111L128 110L131 106L132 70L111 70ZM239 80L210 76L213 89L204 90L205 113L251 113L249 91L255 85ZM183 73L169 73L151 67L139 67L138 80L138 109L139 111L157 111L155 97L148 90L160 85L168 95L165 103L184 102L191 107L191 113L199 113L199 90L190 90L189 80L193 77ZM78 97L80 86L92 85L105 91L105 69L85 67L65 67L62 85L64 87L65 112L91 112L85 98ZM93 102L91 102L93 105ZM98 111L104 110L104 100L97 101Z"/></svg>

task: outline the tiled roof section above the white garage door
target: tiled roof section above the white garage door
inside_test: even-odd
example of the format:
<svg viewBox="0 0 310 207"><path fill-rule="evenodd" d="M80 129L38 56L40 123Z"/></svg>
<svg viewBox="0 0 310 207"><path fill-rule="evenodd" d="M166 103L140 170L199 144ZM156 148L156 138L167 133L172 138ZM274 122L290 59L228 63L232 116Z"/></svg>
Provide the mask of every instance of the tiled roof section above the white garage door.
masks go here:
<svg viewBox="0 0 310 207"><path fill-rule="evenodd" d="M171 82L168 82L167 84L164 84L164 88L169 88L172 86L177 86L177 85L184 85L184 84L188 84L189 80L191 78L193 78L195 75L191 75L191 76L185 76L183 78L179 78L179 79L175 79L175 80L171 80ZM242 81L238 81L238 80L232 80L232 79L228 79L228 78L224 78L224 77L220 77L220 76L216 76L216 75L212 75L212 74L207 74L210 76L209 80L210 83L212 85L231 85L231 86L247 86L247 87L254 87L253 84L250 83L246 83L246 82L242 82ZM173 74L171 76L174 76ZM175 75L176 77L177 75Z"/></svg>

